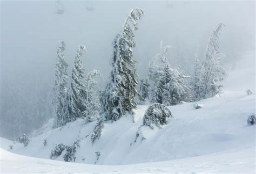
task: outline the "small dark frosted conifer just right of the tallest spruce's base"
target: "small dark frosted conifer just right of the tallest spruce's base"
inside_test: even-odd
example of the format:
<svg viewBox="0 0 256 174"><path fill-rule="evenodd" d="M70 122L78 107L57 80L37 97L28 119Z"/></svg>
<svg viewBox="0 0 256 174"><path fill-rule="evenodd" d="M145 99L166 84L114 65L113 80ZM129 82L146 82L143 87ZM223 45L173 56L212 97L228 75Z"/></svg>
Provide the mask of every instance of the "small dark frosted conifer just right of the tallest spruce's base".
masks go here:
<svg viewBox="0 0 256 174"><path fill-rule="evenodd" d="M138 84L138 103L143 104L149 97L150 85L147 82L147 78L139 78Z"/></svg>

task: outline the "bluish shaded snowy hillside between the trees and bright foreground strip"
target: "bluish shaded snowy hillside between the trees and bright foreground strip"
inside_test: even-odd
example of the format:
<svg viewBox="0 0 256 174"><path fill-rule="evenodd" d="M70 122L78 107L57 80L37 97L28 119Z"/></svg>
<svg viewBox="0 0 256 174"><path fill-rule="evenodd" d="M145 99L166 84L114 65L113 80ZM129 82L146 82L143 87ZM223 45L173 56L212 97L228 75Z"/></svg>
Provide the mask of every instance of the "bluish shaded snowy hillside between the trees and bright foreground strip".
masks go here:
<svg viewBox="0 0 256 174"><path fill-rule="evenodd" d="M105 124L103 134L92 146L90 135L96 122L84 125L83 119L62 128L53 129L33 137L27 147L16 143L13 153L49 159L56 144L72 146L80 139L76 162L94 164L96 151L101 156L97 164L120 165L166 161L241 150L255 147L255 126L247 126L248 115L255 112L255 95L227 95L199 102L203 108L194 110L193 103L170 106L174 115L163 129L147 129L146 140L133 143L147 106L135 110L135 123L131 118L121 118ZM48 145L44 146L44 139ZM65 152L63 152L64 154ZM63 161L63 154L57 158ZM254 153L252 153L254 154ZM84 158L84 161L83 161Z"/></svg>

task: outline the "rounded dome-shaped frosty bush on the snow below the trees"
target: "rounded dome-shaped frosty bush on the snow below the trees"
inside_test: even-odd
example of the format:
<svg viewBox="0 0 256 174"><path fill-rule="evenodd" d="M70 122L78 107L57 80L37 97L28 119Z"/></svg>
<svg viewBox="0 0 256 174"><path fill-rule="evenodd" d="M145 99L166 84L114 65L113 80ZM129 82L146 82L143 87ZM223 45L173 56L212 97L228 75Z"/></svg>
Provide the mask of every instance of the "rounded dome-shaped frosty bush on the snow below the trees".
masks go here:
<svg viewBox="0 0 256 174"><path fill-rule="evenodd" d="M167 118L173 118L171 110L163 104L154 103L145 111L142 125L151 129L154 126L160 128L161 125L167 124Z"/></svg>

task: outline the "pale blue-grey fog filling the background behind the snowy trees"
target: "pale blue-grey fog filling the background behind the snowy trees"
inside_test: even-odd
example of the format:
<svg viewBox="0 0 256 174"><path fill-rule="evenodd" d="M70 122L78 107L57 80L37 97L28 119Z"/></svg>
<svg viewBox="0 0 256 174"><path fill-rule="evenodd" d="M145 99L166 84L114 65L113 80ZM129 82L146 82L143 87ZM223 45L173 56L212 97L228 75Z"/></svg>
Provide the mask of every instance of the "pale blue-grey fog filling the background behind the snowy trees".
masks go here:
<svg viewBox="0 0 256 174"><path fill-rule="evenodd" d="M160 41L172 47L169 61L193 75L194 54L204 59L208 37L218 23L225 24L220 38L221 60L227 70L255 48L254 1L62 1L65 12L56 14L54 1L1 1L1 132L14 139L31 133L52 115L57 42L66 42L69 74L77 46L87 48L85 72L98 69L99 88L110 73L112 41L131 9L145 17L138 22L134 59L139 76L159 53ZM87 5L87 6L86 6ZM92 5L95 10L87 10ZM255 63L255 62L253 62Z"/></svg>

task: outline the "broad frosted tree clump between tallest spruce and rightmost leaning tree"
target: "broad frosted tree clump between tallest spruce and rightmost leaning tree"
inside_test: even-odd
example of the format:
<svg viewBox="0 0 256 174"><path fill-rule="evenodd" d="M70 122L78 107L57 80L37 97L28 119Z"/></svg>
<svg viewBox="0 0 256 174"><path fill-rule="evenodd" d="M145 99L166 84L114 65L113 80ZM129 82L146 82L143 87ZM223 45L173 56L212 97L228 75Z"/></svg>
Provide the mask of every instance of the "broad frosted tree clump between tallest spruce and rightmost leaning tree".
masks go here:
<svg viewBox="0 0 256 174"><path fill-rule="evenodd" d="M183 73L170 66L167 51L170 46L161 48L149 63L148 77L150 79L150 100L152 103L177 105L182 101L190 101L190 85Z"/></svg>

